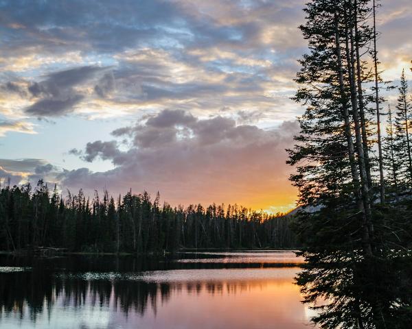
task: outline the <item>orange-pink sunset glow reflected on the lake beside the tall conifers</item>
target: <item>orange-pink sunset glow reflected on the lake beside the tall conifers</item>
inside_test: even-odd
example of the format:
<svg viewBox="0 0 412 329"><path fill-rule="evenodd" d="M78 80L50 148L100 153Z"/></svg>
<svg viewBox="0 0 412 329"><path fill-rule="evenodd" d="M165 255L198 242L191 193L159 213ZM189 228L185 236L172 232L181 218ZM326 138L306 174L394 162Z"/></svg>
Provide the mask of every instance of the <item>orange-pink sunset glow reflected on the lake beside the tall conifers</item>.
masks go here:
<svg viewBox="0 0 412 329"><path fill-rule="evenodd" d="M127 322L159 329L307 328L308 312L300 302L299 287L293 284L297 269L246 271L255 271L257 278L171 283L167 298L157 294L143 316L133 319L136 315L129 313ZM266 272L264 278L259 271ZM273 271L273 278L268 278L268 271Z"/></svg>

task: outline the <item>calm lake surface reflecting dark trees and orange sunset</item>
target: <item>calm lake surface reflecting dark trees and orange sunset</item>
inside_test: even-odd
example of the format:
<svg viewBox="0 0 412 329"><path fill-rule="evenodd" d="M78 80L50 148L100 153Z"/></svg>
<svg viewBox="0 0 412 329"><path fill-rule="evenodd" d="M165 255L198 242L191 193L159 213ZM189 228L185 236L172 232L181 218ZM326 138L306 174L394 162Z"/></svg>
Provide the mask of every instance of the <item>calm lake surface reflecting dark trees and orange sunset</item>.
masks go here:
<svg viewBox="0 0 412 329"><path fill-rule="evenodd" d="M308 328L293 252L0 256L0 328Z"/></svg>

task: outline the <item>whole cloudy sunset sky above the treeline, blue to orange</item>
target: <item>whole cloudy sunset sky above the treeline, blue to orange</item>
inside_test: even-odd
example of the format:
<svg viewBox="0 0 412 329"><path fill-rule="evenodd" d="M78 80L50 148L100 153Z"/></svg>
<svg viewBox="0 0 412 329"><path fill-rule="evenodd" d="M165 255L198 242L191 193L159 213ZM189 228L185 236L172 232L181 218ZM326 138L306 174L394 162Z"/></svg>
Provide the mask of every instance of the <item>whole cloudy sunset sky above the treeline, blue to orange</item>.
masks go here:
<svg viewBox="0 0 412 329"><path fill-rule="evenodd" d="M1 182L293 208L305 2L0 0ZM396 83L412 6L381 4L380 69Z"/></svg>

